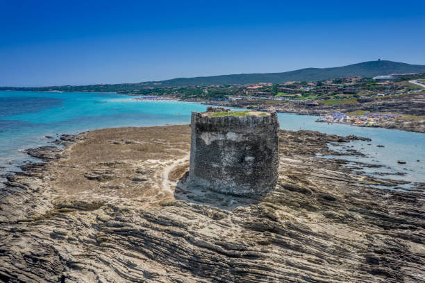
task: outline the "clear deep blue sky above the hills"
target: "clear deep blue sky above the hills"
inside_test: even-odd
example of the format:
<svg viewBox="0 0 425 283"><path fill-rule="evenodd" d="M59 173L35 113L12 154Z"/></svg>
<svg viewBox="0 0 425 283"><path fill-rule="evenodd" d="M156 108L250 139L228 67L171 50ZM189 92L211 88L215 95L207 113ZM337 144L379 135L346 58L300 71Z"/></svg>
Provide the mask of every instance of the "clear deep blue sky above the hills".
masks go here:
<svg viewBox="0 0 425 283"><path fill-rule="evenodd" d="M0 86L425 65L425 1L0 0Z"/></svg>

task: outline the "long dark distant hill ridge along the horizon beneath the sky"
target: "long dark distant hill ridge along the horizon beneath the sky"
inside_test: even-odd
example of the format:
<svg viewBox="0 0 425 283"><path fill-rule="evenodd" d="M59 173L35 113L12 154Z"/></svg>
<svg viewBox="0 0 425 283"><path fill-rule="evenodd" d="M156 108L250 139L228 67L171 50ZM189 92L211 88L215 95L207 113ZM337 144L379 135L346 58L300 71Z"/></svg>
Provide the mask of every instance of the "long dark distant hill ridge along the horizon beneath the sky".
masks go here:
<svg viewBox="0 0 425 283"><path fill-rule="evenodd" d="M388 74L425 73L425 65L410 65L392 61L369 61L343 67L306 68L283 73L267 74L233 74L222 76L204 76L195 78L173 78L171 80L151 81L144 83L125 83L115 85L64 85L55 87L0 87L12 90L62 90L62 91L102 91L128 92L144 87L182 87L194 85L232 85L251 83L285 83L292 80L316 81L330 78L350 76L373 77Z"/></svg>

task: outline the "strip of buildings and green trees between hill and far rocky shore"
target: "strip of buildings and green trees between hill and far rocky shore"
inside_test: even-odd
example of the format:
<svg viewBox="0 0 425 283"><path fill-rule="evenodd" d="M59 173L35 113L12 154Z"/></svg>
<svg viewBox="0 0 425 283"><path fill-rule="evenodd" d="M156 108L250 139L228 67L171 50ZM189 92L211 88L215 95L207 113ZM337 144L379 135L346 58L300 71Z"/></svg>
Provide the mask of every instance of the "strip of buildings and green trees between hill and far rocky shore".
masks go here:
<svg viewBox="0 0 425 283"><path fill-rule="evenodd" d="M333 78L313 82L255 83L232 85L197 85L186 87L147 84L140 89L119 93L133 95L172 96L182 100L238 101L258 99L274 101L328 101L405 94L425 88L425 74L391 74L363 78L360 76Z"/></svg>

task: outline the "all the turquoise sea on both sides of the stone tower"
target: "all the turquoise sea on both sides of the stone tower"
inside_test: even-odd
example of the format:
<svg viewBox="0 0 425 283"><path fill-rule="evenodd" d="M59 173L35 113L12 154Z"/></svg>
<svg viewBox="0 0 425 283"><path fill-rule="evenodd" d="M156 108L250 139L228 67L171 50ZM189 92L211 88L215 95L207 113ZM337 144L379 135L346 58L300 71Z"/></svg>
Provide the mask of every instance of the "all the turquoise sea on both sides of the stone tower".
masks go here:
<svg viewBox="0 0 425 283"><path fill-rule="evenodd" d="M135 97L105 92L0 92L0 167L3 167L0 170L3 173L19 171L17 166L28 160L24 149L48 144L51 139L45 136L99 128L190 123L191 111L206 110L206 105L200 103L134 100ZM350 143L353 149L368 156L351 157L353 160L384 164L385 169L374 171L402 172L406 175L397 178L425 182L423 133L328 125L316 123L317 117L297 114L280 113L278 119L281 128L288 130L370 137L372 142ZM397 160L404 160L406 164L398 164Z"/></svg>

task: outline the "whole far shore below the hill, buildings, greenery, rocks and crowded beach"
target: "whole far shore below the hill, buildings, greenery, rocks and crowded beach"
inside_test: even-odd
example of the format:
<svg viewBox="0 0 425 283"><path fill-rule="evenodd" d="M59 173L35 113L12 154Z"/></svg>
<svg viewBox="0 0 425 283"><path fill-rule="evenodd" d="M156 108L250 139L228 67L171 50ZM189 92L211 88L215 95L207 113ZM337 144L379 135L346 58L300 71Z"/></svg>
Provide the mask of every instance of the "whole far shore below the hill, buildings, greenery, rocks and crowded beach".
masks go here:
<svg viewBox="0 0 425 283"><path fill-rule="evenodd" d="M123 91L135 99L176 99L209 105L315 115L318 122L425 132L425 74L390 74L282 84L198 85Z"/></svg>

